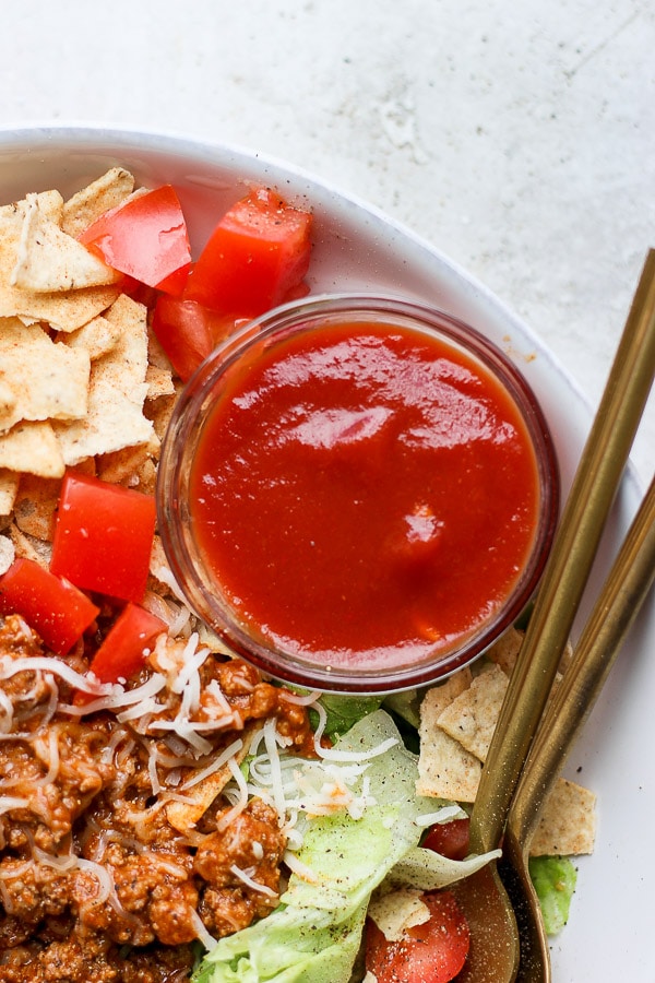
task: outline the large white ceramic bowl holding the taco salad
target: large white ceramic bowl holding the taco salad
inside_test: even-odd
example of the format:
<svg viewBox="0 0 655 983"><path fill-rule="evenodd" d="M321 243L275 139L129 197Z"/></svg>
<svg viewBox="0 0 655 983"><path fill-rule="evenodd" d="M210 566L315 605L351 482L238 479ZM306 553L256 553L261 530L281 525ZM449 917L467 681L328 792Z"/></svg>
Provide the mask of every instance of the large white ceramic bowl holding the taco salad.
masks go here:
<svg viewBox="0 0 655 983"><path fill-rule="evenodd" d="M41 128L0 132L0 199L56 187L72 192L107 167L121 164L146 185L170 181L179 190L193 245L206 237L216 213L250 182L276 186L312 208L317 291L372 291L440 307L474 323L521 368L553 433L565 494L588 430L590 411L572 377L538 339L474 277L429 244L376 210L288 165L235 147L104 129ZM640 496L629 471L604 537L590 594ZM582 614L590 602L583 604ZM570 925L552 943L556 983L655 979L651 933L650 849L655 784L651 719L655 694L655 611L640 617L624 653L574 749L568 772L599 798L597 848L580 862Z"/></svg>

